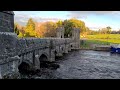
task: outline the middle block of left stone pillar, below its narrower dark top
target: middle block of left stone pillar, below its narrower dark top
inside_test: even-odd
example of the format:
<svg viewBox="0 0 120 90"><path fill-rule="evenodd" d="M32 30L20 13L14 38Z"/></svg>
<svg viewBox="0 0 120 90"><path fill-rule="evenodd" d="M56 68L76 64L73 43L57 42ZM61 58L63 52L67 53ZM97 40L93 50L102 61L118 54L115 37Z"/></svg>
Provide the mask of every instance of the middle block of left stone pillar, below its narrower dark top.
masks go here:
<svg viewBox="0 0 120 90"><path fill-rule="evenodd" d="M17 35L14 33L0 32L0 56L15 56L16 55Z"/></svg>

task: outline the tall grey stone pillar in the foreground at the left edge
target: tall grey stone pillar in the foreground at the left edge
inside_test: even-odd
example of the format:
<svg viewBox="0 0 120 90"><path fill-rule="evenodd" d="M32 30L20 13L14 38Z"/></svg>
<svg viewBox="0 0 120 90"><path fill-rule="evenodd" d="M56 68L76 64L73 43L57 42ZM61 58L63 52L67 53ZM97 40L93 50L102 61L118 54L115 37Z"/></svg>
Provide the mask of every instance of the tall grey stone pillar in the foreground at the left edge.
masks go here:
<svg viewBox="0 0 120 90"><path fill-rule="evenodd" d="M0 12L1 78L10 78L10 76L12 76L11 73L18 72L18 62L20 58L16 54L16 42L17 35L14 33L14 13L12 11L2 11Z"/></svg>

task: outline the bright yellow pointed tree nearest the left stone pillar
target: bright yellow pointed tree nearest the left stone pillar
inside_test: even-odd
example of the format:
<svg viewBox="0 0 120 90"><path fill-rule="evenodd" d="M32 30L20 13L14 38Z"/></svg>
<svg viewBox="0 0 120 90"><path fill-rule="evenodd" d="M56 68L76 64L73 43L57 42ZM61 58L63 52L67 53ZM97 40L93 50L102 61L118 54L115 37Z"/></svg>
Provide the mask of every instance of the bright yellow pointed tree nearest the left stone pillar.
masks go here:
<svg viewBox="0 0 120 90"><path fill-rule="evenodd" d="M35 37L35 22L30 18L25 28L26 37Z"/></svg>

